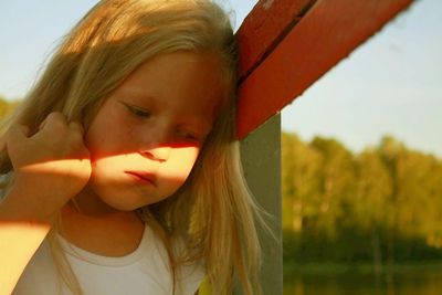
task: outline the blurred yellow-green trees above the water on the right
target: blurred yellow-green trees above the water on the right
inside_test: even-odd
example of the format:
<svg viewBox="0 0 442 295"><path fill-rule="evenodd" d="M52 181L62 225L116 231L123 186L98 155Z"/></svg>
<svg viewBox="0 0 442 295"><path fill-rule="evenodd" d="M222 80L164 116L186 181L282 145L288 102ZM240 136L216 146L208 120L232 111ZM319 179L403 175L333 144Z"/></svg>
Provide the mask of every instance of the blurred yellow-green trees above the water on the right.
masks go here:
<svg viewBox="0 0 442 295"><path fill-rule="evenodd" d="M282 135L284 262L442 259L442 161L392 137L352 155Z"/></svg>

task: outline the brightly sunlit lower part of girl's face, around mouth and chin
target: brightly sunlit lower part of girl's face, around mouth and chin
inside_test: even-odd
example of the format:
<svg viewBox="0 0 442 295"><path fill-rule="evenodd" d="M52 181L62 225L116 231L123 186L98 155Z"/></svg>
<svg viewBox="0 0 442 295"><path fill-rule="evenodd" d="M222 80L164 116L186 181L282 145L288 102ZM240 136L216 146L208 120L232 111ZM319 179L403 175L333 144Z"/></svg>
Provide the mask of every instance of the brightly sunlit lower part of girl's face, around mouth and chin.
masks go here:
<svg viewBox="0 0 442 295"><path fill-rule="evenodd" d="M162 164L146 160L138 152L95 159L92 188L103 201L119 210L160 201L186 181L199 148L175 148L170 154Z"/></svg>

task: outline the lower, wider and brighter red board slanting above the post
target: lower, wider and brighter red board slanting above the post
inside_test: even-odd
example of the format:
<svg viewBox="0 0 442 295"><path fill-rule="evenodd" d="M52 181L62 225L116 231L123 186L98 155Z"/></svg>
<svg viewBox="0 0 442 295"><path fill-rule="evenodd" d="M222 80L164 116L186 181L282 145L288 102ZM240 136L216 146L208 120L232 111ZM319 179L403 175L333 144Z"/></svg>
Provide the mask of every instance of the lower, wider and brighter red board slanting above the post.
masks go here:
<svg viewBox="0 0 442 295"><path fill-rule="evenodd" d="M238 137L280 112L411 2L318 0L241 83Z"/></svg>

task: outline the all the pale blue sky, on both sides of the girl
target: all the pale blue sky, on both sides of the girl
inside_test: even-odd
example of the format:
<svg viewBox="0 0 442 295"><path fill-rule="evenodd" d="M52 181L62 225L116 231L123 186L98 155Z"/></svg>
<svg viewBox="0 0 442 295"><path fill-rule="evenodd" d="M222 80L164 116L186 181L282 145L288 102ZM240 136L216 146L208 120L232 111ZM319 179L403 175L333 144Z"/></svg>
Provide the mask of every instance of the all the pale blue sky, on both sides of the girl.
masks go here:
<svg viewBox="0 0 442 295"><path fill-rule="evenodd" d="M0 96L22 97L57 41L96 2L2 0ZM235 28L255 3L225 3ZM414 1L285 107L282 128L304 140L334 137L355 152L392 135L442 158L441 13L440 0Z"/></svg>

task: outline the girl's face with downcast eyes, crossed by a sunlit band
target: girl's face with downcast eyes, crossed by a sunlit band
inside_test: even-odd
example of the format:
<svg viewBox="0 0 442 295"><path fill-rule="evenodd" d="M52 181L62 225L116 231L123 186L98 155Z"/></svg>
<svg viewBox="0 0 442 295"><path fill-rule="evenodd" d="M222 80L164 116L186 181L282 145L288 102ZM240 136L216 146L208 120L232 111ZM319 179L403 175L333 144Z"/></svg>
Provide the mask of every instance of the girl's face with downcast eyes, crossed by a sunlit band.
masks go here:
<svg viewBox="0 0 442 295"><path fill-rule="evenodd" d="M212 128L221 94L219 60L211 54L162 54L138 67L86 133L93 194L126 211L177 191Z"/></svg>

